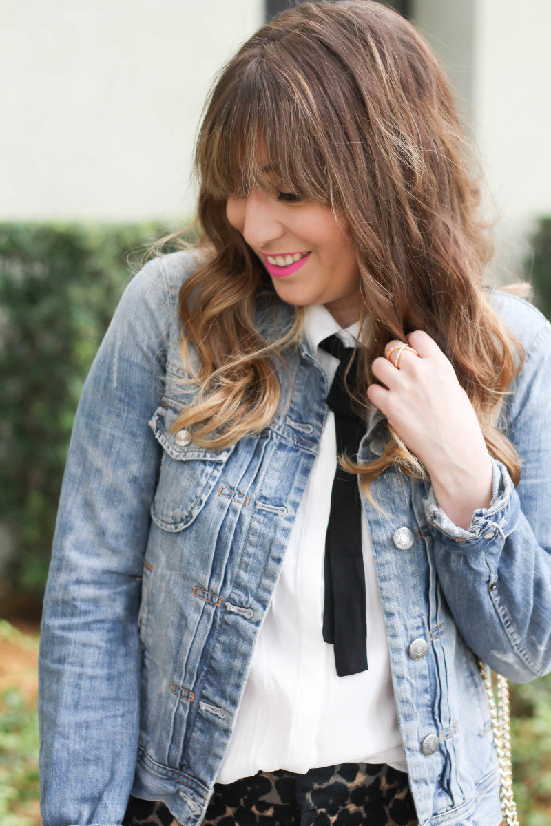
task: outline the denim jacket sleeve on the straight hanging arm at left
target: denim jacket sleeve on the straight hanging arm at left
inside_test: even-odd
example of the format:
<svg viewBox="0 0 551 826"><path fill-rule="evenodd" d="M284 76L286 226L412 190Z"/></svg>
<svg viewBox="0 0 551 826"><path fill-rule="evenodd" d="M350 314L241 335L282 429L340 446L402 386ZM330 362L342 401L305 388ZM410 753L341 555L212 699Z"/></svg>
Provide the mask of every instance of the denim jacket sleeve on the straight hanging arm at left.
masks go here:
<svg viewBox="0 0 551 826"><path fill-rule="evenodd" d="M120 824L139 726L137 614L160 448L169 290L160 259L127 284L83 386L40 635L44 826Z"/></svg>

